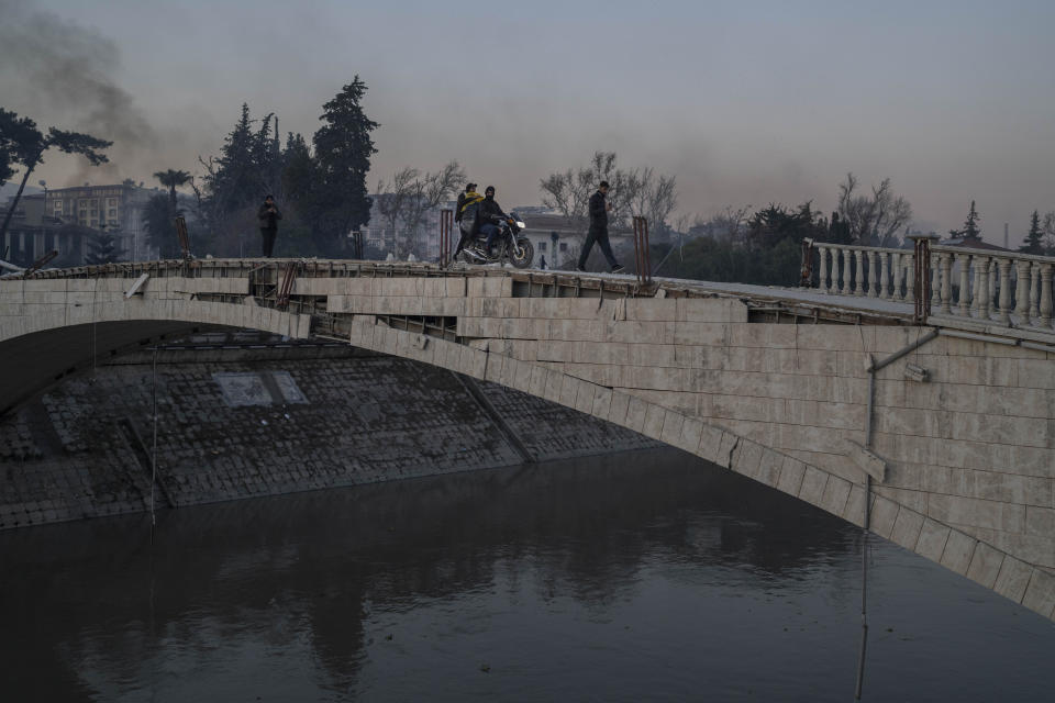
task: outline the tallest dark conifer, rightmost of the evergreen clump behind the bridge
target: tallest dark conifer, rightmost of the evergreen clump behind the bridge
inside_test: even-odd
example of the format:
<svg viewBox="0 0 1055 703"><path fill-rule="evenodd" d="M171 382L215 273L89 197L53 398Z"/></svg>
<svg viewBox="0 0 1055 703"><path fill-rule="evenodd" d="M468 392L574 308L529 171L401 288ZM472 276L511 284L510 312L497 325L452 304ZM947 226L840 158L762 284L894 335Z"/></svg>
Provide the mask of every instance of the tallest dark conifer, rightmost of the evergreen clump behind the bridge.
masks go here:
<svg viewBox="0 0 1055 703"><path fill-rule="evenodd" d="M318 212L313 220L323 252L335 253L348 232L370 219L366 176L370 157L377 153L370 132L380 125L363 111L366 90L366 83L355 76L322 107L319 119L324 124L312 138L318 167Z"/></svg>

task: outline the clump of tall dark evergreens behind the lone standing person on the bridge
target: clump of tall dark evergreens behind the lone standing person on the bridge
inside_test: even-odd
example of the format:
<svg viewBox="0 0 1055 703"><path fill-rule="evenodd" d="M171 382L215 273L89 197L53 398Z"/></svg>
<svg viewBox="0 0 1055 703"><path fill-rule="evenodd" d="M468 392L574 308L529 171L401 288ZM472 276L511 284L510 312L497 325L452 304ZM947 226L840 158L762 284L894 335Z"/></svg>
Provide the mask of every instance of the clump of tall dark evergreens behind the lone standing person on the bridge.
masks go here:
<svg viewBox="0 0 1055 703"><path fill-rule="evenodd" d="M366 177L377 153L371 132L379 123L363 108L367 86L355 76L322 105L322 125L309 142L289 132L285 143L278 118L268 113L254 120L248 104L224 138L220 154L199 157L203 175L191 179L181 170L155 174L170 188L148 208L149 242L162 255L175 254L173 214L175 187L189 183L195 193L192 245L214 256L255 253L258 243L257 209L274 196L284 210L278 254L338 257L346 235L369 221L371 199ZM189 223L190 225L190 223Z"/></svg>

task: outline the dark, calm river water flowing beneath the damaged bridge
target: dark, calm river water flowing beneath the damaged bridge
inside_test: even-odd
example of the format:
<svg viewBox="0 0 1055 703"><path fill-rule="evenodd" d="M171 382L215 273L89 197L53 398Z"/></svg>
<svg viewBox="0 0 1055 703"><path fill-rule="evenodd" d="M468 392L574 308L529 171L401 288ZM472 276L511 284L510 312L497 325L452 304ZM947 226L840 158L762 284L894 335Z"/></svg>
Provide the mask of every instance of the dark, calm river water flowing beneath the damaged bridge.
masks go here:
<svg viewBox="0 0 1055 703"><path fill-rule="evenodd" d="M881 539L866 701L1052 701L1055 625ZM852 701L860 531L676 450L0 533L2 701Z"/></svg>

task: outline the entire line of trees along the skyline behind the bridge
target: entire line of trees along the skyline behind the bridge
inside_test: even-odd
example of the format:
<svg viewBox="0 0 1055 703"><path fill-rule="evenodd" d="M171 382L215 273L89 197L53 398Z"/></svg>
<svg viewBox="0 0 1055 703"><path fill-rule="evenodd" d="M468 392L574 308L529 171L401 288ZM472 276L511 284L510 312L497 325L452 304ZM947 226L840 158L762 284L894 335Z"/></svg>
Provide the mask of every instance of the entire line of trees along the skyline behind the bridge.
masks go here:
<svg viewBox="0 0 1055 703"><path fill-rule="evenodd" d="M255 253L257 208L263 197L271 193L285 213L279 255L344 256L347 234L369 223L396 256L414 254L424 258L429 254L429 238L422 236L427 213L460 190L465 171L457 160L436 171L408 166L389 179L380 179L370 194L366 177L377 153L371 133L380 125L364 111L366 91L366 83L355 76L322 105L322 124L310 140L289 132L284 141L274 113L254 119L244 103L220 153L199 157L200 176L174 168L154 174L167 192L146 204L148 244L163 257L178 256L174 220L182 214L196 253ZM49 149L81 155L90 164L100 165L108 160L104 152L109 146L110 142L88 134L38 129L29 118L0 109L0 182L22 170L19 191L3 215L0 234L7 230L30 175ZM696 215L675 221L676 178L649 167L623 168L614 152L596 152L584 165L540 179L542 202L560 213L569 230L585 232L589 198L601 180L611 187L612 228L629 228L632 215L644 215L654 241L662 242L653 253L656 272L666 276L788 284L797 280L803 238L900 246L901 234L912 219L911 205L893 191L889 178L863 188L851 172L839 183L836 209L830 216L806 201L796 207L725 207L707 219ZM180 199L177 189L187 186L193 197ZM374 223L371 205L376 205L378 215ZM963 227L948 234L980 239L979 221L971 201ZM1032 213L1019 250L1055 255L1055 211ZM367 254L379 257L385 253ZM120 254L112 234L93 233L89 263L114 260Z"/></svg>

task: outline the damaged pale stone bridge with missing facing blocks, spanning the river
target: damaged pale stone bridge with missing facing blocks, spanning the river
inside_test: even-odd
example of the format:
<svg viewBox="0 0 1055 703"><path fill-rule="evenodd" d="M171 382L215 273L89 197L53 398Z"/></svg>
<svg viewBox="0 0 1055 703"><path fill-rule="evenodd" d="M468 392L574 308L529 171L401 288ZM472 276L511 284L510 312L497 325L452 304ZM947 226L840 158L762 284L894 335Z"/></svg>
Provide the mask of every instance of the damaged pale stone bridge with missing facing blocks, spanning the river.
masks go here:
<svg viewBox="0 0 1055 703"><path fill-rule="evenodd" d="M1055 617L1055 338L917 324L909 305L878 303L356 261L47 270L0 280L0 412L195 330L338 339L575 408L867 518Z"/></svg>

